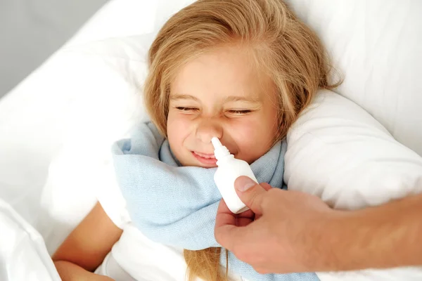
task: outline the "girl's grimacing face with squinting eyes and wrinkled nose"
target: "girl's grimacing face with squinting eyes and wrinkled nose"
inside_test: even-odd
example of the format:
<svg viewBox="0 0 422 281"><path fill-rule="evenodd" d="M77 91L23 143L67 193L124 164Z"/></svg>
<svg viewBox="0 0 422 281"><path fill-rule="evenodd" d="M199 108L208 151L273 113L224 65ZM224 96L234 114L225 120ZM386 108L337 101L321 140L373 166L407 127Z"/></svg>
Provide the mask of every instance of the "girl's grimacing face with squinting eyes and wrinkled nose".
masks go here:
<svg viewBox="0 0 422 281"><path fill-rule="evenodd" d="M213 167L216 136L248 163L276 136L276 93L269 77L252 67L241 48L225 47L191 60L170 86L167 137L184 166Z"/></svg>

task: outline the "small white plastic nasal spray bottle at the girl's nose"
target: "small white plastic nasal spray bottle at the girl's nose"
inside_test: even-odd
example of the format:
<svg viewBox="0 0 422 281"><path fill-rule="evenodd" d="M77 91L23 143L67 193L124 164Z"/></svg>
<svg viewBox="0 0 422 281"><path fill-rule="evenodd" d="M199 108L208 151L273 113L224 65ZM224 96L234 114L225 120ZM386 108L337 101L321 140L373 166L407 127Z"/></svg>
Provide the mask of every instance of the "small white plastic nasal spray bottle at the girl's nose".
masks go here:
<svg viewBox="0 0 422 281"><path fill-rule="evenodd" d="M222 194L227 207L234 214L247 211L249 208L240 200L234 188L234 181L239 176L248 176L258 183L257 178L250 169L248 162L234 158L229 150L220 143L218 138L211 139L214 146L214 155L217 159L217 171L214 174L214 181L219 192Z"/></svg>

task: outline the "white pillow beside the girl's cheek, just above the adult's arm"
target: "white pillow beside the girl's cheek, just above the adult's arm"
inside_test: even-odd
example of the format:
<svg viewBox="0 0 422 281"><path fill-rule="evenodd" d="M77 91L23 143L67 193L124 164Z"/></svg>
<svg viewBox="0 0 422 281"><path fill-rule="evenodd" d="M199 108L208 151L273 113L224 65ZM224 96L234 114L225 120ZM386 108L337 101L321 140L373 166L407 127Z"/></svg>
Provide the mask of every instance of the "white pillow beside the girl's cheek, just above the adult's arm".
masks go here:
<svg viewBox="0 0 422 281"><path fill-rule="evenodd" d="M422 192L422 157L331 91L319 92L287 141L288 188L317 195L335 208L359 209Z"/></svg>

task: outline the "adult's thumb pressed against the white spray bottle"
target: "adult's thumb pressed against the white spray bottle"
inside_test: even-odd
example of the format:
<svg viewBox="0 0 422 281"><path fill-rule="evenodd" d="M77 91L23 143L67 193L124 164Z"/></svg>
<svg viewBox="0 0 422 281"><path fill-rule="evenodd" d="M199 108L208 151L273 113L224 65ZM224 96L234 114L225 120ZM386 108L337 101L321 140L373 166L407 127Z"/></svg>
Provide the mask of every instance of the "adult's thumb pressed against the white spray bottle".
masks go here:
<svg viewBox="0 0 422 281"><path fill-rule="evenodd" d="M234 188L236 188L238 197L249 209L255 214L262 214L262 198L267 190L247 176L236 178Z"/></svg>

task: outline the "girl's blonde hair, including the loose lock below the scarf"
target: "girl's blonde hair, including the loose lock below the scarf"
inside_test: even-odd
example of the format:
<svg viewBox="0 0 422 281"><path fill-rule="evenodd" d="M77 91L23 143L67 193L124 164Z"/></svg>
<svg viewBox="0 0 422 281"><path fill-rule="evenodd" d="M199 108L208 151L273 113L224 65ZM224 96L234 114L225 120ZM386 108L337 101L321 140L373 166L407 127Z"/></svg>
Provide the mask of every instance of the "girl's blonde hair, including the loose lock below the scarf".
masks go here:
<svg viewBox="0 0 422 281"><path fill-rule="evenodd" d="M180 67L200 54L227 44L252 51L260 71L269 75L279 98L279 130L284 138L318 89L332 89L324 47L281 0L198 0L168 20L149 50L145 84L148 114L167 136L170 83ZM189 280L226 280L221 249L185 250Z"/></svg>

